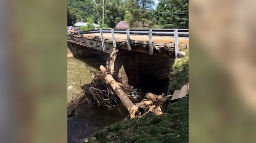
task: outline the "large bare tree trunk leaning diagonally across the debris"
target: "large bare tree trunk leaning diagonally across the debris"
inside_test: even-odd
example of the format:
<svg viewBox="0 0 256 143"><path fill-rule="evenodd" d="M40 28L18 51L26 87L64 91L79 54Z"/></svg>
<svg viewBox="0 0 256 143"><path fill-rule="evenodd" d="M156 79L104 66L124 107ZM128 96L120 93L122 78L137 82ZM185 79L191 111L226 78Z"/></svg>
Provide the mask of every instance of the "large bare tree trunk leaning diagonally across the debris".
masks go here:
<svg viewBox="0 0 256 143"><path fill-rule="evenodd" d="M119 99L122 101L123 105L130 113L130 117L135 117L135 112L138 110L138 107L133 104L133 102L126 96L122 88L118 85L118 82L106 71L106 69L101 65L100 70L102 73L106 74L105 79L111 85L112 89L115 91Z"/></svg>

